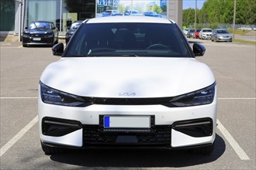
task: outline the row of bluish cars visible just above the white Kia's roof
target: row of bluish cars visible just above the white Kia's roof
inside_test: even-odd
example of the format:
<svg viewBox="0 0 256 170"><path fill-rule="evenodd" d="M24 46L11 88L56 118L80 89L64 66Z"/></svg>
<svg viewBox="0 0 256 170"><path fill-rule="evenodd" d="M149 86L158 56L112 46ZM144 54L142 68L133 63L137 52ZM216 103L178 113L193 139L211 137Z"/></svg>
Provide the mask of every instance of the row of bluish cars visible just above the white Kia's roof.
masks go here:
<svg viewBox="0 0 256 170"><path fill-rule="evenodd" d="M153 16L153 17L158 17L161 18L162 15L161 14L157 14L157 12L144 12L144 13L140 13L137 10L127 10L124 13L119 12L118 10L106 10L104 12L102 12L102 17L104 16L117 16L117 15L136 15L136 16Z"/></svg>

